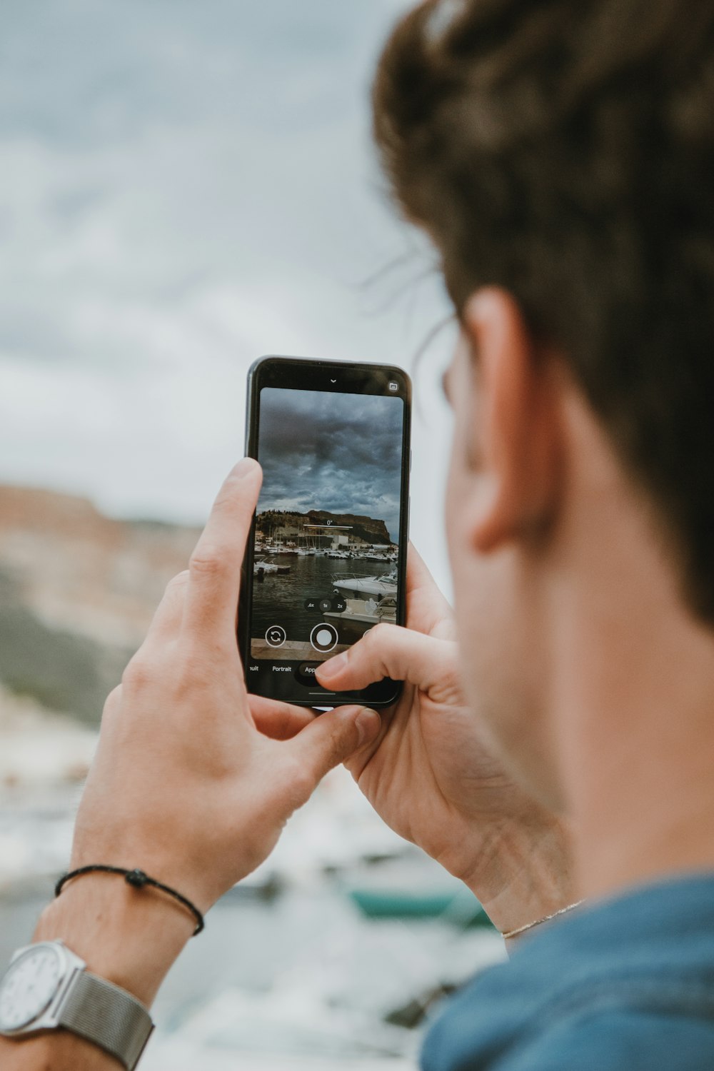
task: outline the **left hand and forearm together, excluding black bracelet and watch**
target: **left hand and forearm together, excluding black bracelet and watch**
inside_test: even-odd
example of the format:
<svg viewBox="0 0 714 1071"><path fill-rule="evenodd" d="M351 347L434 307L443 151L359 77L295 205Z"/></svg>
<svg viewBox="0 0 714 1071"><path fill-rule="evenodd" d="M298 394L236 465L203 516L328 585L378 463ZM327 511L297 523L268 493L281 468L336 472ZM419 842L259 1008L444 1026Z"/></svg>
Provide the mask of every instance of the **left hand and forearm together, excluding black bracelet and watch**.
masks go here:
<svg viewBox="0 0 714 1071"><path fill-rule="evenodd" d="M343 707L282 733L277 707L268 715L272 737L256 727L236 617L260 482L256 462L236 466L189 569L169 584L107 699L75 827L71 869L139 868L201 911L267 858L320 779L380 726L374 711ZM264 700L253 709L263 710ZM163 893L91 874L70 881L45 909L35 940L64 939L90 970L150 1004L194 925ZM0 1039L0 1062L13 1071L113 1067L64 1031Z"/></svg>

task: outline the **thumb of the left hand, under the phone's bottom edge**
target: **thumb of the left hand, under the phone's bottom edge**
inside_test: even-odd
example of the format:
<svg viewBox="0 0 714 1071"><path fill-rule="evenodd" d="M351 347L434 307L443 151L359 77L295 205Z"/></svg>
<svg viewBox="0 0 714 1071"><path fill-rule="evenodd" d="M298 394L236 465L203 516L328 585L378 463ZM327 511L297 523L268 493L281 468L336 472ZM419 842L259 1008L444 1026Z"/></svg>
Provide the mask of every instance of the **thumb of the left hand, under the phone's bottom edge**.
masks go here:
<svg viewBox="0 0 714 1071"><path fill-rule="evenodd" d="M379 734L381 720L367 707L336 707L306 725L280 746L290 752L305 771L312 788L334 766L339 766L361 748L366 748ZM310 789L312 791L312 789Z"/></svg>

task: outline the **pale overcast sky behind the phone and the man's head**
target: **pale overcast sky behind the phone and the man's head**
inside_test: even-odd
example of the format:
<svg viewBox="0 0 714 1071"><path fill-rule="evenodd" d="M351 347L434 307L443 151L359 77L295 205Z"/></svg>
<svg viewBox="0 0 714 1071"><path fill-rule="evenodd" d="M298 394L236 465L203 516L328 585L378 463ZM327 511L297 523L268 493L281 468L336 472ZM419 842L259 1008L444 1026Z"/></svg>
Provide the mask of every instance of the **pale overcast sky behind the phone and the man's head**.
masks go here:
<svg viewBox="0 0 714 1071"><path fill-rule="evenodd" d="M410 367L446 304L368 111L405 6L3 4L1 481L200 522L242 454L256 357ZM417 377L412 487L442 583L447 350Z"/></svg>

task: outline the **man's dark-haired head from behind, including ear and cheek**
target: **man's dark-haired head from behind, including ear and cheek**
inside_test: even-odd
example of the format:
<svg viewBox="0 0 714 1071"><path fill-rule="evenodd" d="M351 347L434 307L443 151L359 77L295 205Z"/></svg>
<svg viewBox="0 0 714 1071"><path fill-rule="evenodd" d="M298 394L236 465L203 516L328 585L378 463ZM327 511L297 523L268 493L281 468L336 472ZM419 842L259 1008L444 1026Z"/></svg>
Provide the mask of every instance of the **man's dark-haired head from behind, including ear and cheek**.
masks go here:
<svg viewBox="0 0 714 1071"><path fill-rule="evenodd" d="M512 754L518 734L546 746L527 719L550 698L552 553L586 455L714 624L713 60L707 0L428 0L380 63L382 159L462 327L457 610Z"/></svg>

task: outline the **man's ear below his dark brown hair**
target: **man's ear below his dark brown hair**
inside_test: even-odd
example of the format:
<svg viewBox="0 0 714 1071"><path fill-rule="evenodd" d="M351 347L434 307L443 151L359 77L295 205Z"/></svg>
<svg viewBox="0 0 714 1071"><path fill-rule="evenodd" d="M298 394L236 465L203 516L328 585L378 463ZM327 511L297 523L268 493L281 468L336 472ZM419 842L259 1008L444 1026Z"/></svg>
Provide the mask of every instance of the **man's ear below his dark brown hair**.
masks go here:
<svg viewBox="0 0 714 1071"><path fill-rule="evenodd" d="M515 299L487 288L462 314L474 363L467 443L474 465L471 527L482 554L551 519L560 477L558 377Z"/></svg>

